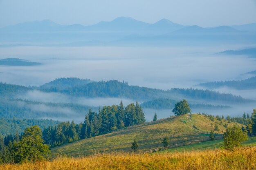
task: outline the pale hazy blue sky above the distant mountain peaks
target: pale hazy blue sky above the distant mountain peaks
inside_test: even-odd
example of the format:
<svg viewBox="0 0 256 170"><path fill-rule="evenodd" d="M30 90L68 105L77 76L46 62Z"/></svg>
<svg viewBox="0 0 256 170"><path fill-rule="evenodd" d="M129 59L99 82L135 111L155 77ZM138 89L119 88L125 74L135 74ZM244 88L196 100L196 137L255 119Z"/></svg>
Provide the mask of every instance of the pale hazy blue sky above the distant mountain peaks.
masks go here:
<svg viewBox="0 0 256 170"><path fill-rule="evenodd" d="M256 0L0 0L0 27L49 19L92 25L128 16L204 27L256 22Z"/></svg>

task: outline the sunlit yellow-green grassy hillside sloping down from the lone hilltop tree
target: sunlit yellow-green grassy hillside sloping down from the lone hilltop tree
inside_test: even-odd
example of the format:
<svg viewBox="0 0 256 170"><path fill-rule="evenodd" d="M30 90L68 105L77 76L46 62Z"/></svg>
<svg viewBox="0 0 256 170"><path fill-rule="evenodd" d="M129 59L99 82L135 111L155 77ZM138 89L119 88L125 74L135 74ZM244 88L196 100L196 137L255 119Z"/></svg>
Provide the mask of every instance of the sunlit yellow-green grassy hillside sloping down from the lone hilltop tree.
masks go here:
<svg viewBox="0 0 256 170"><path fill-rule="evenodd" d="M197 114L171 117L64 144L63 146L52 148L51 152L52 156L64 154L77 156L80 154L92 154L95 151L130 151L133 139L137 139L139 149L143 151L162 146L164 137L169 137L170 144L175 144L181 141L209 137L209 134L204 134L202 131L213 130L215 124L218 124L220 129L216 133L224 132L226 129L224 127L225 124L227 126L234 125L233 122L228 123L225 119L221 119L222 123L216 118L212 118L212 120L207 116Z"/></svg>

